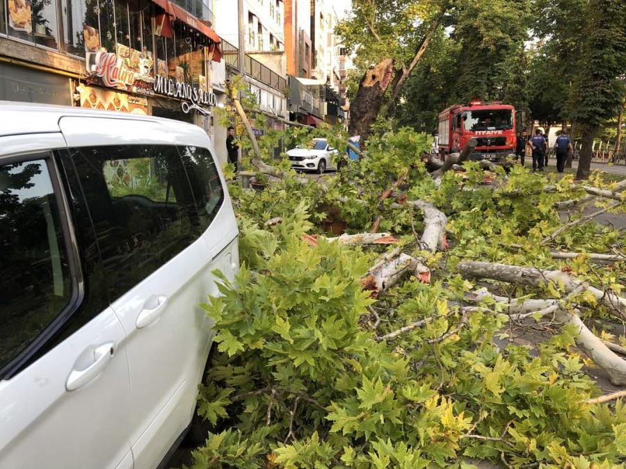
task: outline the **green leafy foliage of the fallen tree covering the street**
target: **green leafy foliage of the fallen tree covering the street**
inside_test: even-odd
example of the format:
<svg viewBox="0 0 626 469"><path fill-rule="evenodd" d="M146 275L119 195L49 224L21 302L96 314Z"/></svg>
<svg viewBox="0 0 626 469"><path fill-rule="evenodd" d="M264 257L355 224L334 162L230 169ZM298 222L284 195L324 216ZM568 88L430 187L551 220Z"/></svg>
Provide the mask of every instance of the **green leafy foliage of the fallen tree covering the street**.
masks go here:
<svg viewBox="0 0 626 469"><path fill-rule="evenodd" d="M243 266L234 282L221 277L221 296L204 305L220 353L201 389L200 412L216 431L194 453L195 468L469 467L465 458L513 467L618 466L626 409L585 404L598 391L572 349L575 331L564 328L536 351L497 345L507 321L501 306L471 314L459 306L473 287L454 273L461 259L559 267L536 241L559 226L554 202L579 195L571 180L515 167L508 179L498 174L501 187L492 190L481 186L478 165L467 164L465 177L447 173L435 188L415 158L426 145L426 136L409 129L373 139L360 166L371 176L358 184L333 179L326 192L289 177L259 194L233 191ZM311 207L360 197L355 186L369 197L407 171L410 197L431 199L449 215L454 247L428 259L433 284L411 278L378 299L378 311L389 312L374 330L374 300L360 284L372 254L323 240L311 247L300 238L319 229ZM548 182L556 192L543 192ZM401 232L411 222L419 229L418 213L378 210L386 218L410 216ZM282 223L261 228L274 216ZM353 220L353 229L370 220ZM588 249L616 241L615 231L593 223L580 229ZM569 236L557 242L568 245ZM420 248L406 240L403 249ZM571 265L604 284L612 276L616 288L623 268L594 272L584 258ZM419 320L424 327L376 339Z"/></svg>

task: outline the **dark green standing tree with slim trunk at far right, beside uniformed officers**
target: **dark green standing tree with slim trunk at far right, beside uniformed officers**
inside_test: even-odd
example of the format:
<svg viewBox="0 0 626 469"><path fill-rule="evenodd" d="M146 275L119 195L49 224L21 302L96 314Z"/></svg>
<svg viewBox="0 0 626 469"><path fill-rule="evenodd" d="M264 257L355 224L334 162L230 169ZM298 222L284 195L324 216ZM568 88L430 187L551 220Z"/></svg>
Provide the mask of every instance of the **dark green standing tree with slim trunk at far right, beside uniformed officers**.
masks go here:
<svg viewBox="0 0 626 469"><path fill-rule="evenodd" d="M604 120L618 114L626 94L620 75L626 69L626 3L623 0L586 2L581 11L581 52L574 72L568 115L582 130L577 179L591 170L593 138Z"/></svg>

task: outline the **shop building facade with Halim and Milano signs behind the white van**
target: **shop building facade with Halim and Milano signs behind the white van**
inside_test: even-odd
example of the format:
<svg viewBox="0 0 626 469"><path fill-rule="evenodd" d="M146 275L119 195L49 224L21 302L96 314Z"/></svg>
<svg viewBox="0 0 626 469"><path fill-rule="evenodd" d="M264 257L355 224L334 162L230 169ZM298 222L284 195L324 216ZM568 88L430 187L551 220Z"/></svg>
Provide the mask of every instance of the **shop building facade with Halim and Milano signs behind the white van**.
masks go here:
<svg viewBox="0 0 626 469"><path fill-rule="evenodd" d="M217 104L212 3L0 2L0 99L170 117L208 133Z"/></svg>

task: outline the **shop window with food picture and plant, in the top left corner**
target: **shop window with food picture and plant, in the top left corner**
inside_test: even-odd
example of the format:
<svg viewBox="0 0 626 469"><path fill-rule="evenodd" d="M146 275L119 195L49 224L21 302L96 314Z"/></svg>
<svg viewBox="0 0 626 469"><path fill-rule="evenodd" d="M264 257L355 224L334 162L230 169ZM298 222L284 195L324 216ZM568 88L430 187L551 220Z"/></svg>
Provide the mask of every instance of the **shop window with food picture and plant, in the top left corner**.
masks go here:
<svg viewBox="0 0 626 469"><path fill-rule="evenodd" d="M50 49L58 48L56 0L6 0L8 35Z"/></svg>

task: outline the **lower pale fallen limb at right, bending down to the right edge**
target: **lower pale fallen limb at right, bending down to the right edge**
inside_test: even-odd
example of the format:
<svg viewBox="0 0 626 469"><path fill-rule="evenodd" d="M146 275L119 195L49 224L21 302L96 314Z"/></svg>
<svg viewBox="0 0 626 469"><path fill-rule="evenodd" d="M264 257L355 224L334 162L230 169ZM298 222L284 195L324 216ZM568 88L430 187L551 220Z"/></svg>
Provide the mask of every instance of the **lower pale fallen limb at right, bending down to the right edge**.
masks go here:
<svg viewBox="0 0 626 469"><path fill-rule="evenodd" d="M580 289L583 289L581 286ZM499 303L505 303L508 306L509 316L513 320L522 320L534 315L540 315L541 317L549 314L554 314L554 319L562 324L572 324L576 327L578 336L575 339L576 345L589 356L596 365L598 365L604 372L609 375L611 384L615 386L626 385L626 360L607 347L607 345L595 336L591 330L586 327L584 322L580 319L577 312L565 311L561 300L559 299L531 299L523 302L516 299L508 299L506 297L499 297L492 295L486 290L479 290L477 297L483 299L490 296L492 299ZM538 306L543 306L537 309ZM513 314L512 314L513 313Z"/></svg>

